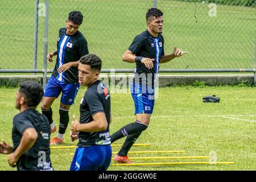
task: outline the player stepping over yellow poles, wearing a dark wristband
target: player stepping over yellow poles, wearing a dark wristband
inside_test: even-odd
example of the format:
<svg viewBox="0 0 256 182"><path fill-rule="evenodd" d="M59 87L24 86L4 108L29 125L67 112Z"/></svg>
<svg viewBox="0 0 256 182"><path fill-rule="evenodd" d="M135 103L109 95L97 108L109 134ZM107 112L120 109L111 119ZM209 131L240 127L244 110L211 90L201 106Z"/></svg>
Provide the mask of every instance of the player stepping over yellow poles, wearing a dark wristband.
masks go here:
<svg viewBox="0 0 256 182"><path fill-rule="evenodd" d="M111 142L126 137L121 150L115 155L114 160L119 163L131 163L127 152L134 142L146 130L152 111L154 109L155 81L160 63L167 63L175 57L180 57L187 52L174 48L171 54L164 54L163 13L152 8L146 13L147 30L137 35L133 43L123 54L123 61L136 63L134 79L131 82L131 96L135 105L136 121L122 127L111 135Z"/></svg>

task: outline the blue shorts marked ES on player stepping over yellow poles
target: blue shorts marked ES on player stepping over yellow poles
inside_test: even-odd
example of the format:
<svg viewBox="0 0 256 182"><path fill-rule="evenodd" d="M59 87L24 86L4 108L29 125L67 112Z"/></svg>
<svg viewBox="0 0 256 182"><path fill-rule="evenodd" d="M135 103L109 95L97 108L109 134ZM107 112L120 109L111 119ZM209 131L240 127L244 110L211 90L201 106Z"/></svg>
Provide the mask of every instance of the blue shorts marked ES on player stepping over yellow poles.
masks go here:
<svg viewBox="0 0 256 182"><path fill-rule="evenodd" d="M131 96L135 106L135 115L152 114L155 104L154 89L131 82Z"/></svg>

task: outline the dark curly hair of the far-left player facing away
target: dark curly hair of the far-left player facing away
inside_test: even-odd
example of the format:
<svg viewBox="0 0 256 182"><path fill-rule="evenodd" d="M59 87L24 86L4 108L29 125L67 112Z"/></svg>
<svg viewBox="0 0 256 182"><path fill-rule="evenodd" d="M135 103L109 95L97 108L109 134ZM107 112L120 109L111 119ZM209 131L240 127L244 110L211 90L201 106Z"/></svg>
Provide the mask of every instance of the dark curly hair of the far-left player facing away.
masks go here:
<svg viewBox="0 0 256 182"><path fill-rule="evenodd" d="M43 97L43 87L35 81L23 81L19 84L19 92L23 94L28 107L38 106Z"/></svg>

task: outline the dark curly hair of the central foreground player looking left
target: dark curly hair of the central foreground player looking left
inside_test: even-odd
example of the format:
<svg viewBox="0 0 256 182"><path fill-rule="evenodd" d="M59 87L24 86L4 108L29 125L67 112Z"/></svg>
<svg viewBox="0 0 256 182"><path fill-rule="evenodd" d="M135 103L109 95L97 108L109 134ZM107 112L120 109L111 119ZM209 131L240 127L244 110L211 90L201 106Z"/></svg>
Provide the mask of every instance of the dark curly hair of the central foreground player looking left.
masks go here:
<svg viewBox="0 0 256 182"><path fill-rule="evenodd" d="M101 71L102 61L100 57L89 53L88 55L82 56L80 63L90 65L90 68Z"/></svg>

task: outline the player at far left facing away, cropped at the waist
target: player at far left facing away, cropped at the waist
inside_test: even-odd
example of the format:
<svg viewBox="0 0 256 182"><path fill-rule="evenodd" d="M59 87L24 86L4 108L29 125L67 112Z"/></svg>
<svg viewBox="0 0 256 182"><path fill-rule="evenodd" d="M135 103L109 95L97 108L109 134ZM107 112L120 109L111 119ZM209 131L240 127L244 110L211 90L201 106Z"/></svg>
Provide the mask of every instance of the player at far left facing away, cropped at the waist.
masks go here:
<svg viewBox="0 0 256 182"><path fill-rule="evenodd" d="M50 160L50 126L45 115L36 110L43 97L38 82L20 83L15 107L20 113L13 118L13 147L2 141L0 154L9 154L11 167L23 170L53 170Z"/></svg>

